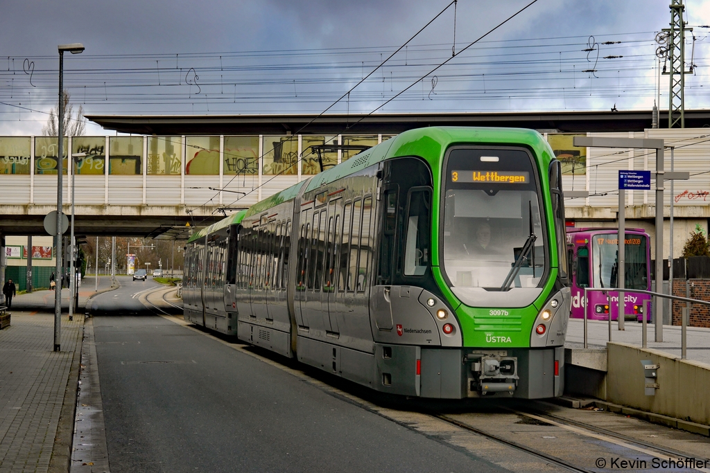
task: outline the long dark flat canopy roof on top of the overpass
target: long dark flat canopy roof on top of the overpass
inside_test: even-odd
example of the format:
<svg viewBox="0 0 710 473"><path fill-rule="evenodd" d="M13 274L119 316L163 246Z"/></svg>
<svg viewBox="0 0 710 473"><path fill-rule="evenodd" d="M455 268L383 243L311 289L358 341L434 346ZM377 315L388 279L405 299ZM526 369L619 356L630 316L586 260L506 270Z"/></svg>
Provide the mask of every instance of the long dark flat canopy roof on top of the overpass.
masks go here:
<svg viewBox="0 0 710 473"><path fill-rule="evenodd" d="M667 111L659 127L668 127ZM396 135L423 126L532 128L547 133L643 131L651 111L552 111L501 113L373 113L327 115L88 115L106 130L139 135ZM686 110L686 128L710 126L710 110Z"/></svg>

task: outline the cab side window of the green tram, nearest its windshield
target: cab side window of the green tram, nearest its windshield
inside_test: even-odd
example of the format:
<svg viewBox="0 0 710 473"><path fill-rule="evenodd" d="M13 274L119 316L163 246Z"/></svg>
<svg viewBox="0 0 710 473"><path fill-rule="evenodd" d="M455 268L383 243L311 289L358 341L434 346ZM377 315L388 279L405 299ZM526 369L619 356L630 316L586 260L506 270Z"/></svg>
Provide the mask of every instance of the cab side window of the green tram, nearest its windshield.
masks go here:
<svg viewBox="0 0 710 473"><path fill-rule="evenodd" d="M422 276L430 260L431 190L412 189L407 204L405 276Z"/></svg>

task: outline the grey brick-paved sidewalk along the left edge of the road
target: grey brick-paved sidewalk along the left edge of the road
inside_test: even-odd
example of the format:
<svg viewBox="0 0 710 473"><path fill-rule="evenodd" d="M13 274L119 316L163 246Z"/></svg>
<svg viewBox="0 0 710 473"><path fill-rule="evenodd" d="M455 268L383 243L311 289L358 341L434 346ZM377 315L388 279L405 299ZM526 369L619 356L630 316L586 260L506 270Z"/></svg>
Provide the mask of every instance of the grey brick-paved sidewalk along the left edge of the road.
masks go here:
<svg viewBox="0 0 710 473"><path fill-rule="evenodd" d="M60 352L53 314L13 307L10 327L0 330L0 473L48 471L83 325L83 315L62 316Z"/></svg>

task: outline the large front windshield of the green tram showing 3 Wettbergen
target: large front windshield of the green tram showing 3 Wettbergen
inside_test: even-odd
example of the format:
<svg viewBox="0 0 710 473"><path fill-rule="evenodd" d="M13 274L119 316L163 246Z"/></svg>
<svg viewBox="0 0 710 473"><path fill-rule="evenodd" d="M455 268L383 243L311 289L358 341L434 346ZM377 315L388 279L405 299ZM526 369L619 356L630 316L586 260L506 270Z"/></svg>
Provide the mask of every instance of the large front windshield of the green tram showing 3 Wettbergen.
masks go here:
<svg viewBox="0 0 710 473"><path fill-rule="evenodd" d="M544 213L528 152L452 150L445 186L442 253L452 288L540 286Z"/></svg>

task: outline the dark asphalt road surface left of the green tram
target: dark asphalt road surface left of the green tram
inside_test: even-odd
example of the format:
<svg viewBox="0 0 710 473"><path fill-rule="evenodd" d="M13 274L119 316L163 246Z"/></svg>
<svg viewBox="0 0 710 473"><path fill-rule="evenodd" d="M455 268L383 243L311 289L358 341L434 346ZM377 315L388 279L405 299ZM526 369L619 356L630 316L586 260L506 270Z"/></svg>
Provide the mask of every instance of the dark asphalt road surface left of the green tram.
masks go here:
<svg viewBox="0 0 710 473"><path fill-rule="evenodd" d="M152 315L150 279L120 282L92 301L113 473L506 471Z"/></svg>

